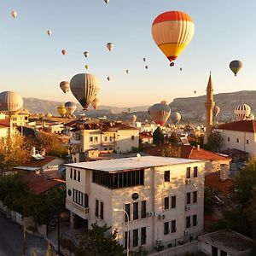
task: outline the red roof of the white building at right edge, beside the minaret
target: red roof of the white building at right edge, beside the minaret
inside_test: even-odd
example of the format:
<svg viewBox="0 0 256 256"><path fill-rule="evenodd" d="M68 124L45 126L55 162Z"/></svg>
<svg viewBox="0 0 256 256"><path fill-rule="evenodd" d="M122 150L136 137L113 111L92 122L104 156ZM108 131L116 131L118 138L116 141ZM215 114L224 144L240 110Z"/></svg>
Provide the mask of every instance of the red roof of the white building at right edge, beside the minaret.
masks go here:
<svg viewBox="0 0 256 256"><path fill-rule="evenodd" d="M247 131L256 132L256 121L254 120L242 120L238 122L232 122L227 124L218 125L219 130L229 130L229 131Z"/></svg>

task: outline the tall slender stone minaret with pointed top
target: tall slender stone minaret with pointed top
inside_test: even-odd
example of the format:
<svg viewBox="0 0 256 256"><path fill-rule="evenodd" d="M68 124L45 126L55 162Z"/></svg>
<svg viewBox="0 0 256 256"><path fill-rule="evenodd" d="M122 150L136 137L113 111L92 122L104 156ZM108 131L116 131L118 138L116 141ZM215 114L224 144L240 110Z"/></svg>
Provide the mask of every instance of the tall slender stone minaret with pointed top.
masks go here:
<svg viewBox="0 0 256 256"><path fill-rule="evenodd" d="M213 87L212 87L212 76L210 72L208 84L207 84L207 102L205 103L207 109L206 128L207 131L204 137L204 143L207 143L207 138L212 132L212 109L214 108L215 102L213 102Z"/></svg>

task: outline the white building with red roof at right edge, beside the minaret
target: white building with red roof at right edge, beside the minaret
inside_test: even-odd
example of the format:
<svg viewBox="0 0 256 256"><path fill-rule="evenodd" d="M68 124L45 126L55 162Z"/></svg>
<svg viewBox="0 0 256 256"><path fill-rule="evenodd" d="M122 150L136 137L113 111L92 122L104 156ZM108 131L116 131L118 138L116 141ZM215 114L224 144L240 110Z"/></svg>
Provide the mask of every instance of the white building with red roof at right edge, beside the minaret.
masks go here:
<svg viewBox="0 0 256 256"><path fill-rule="evenodd" d="M222 124L215 131L220 132L224 138L222 151L236 148L251 156L256 155L256 121L243 120Z"/></svg>

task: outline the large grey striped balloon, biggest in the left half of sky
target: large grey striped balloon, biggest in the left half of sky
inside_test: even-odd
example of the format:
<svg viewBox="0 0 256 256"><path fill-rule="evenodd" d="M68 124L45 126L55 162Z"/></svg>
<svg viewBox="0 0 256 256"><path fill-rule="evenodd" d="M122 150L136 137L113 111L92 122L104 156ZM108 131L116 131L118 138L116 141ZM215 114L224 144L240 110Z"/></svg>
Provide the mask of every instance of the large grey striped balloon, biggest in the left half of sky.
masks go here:
<svg viewBox="0 0 256 256"><path fill-rule="evenodd" d="M79 73L71 79L70 89L82 107L87 109L99 92L100 85L95 75Z"/></svg>

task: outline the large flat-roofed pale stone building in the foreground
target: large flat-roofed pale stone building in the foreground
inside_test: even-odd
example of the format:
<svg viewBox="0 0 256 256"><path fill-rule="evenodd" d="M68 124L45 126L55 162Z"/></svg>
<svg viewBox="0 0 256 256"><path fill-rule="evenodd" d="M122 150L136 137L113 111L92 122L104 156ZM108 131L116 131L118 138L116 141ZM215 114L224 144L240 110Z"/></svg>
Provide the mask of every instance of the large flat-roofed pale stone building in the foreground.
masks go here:
<svg viewBox="0 0 256 256"><path fill-rule="evenodd" d="M145 156L67 164L66 207L71 223L108 224L130 247L173 247L203 230L207 161Z"/></svg>

